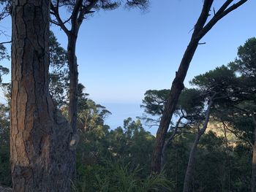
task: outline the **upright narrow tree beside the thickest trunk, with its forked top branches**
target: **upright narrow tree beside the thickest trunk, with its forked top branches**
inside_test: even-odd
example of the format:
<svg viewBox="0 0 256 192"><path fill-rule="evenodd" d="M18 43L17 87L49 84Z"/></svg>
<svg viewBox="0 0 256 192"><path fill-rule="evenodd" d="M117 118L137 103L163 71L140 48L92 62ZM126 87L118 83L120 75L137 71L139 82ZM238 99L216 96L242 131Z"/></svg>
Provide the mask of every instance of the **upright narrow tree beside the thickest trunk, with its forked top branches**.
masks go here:
<svg viewBox="0 0 256 192"><path fill-rule="evenodd" d="M73 131L77 128L78 118L78 63L75 47L78 32L83 20L99 9L116 9L122 1L119 0L52 0L50 13L53 15L52 23L59 26L67 35L67 60L69 65L69 123ZM148 0L126 1L127 7L146 8ZM61 16L61 8L67 9L69 16Z"/></svg>

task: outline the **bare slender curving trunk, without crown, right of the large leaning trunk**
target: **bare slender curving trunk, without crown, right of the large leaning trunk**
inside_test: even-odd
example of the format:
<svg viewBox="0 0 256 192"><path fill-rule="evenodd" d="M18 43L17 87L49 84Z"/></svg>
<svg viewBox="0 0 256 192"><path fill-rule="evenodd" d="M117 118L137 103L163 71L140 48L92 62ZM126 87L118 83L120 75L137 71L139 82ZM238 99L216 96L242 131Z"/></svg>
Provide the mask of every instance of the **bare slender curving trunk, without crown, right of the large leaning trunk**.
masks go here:
<svg viewBox="0 0 256 192"><path fill-rule="evenodd" d="M208 125L208 121L210 119L211 107L212 107L213 104L214 104L214 101L213 101L213 98L211 98L211 101L210 101L210 103L208 104L208 107L207 107L206 119L204 120L203 128L198 130L197 135L195 137L195 141L194 141L194 143L192 145L192 148L190 150L189 162L187 164L187 172L186 172L186 175L185 175L183 192L188 192L189 191L189 184L190 184L190 181L192 179L193 166L195 164L195 152L197 150L197 145L199 143L200 137L206 131L206 128L207 128L207 125Z"/></svg>

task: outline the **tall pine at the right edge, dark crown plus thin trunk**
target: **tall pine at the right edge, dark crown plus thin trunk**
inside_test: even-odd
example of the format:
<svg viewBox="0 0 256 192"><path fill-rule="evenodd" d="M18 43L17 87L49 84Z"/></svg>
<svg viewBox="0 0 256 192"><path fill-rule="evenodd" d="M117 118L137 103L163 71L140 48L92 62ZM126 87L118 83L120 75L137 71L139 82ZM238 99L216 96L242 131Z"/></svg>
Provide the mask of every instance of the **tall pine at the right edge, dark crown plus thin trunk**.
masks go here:
<svg viewBox="0 0 256 192"><path fill-rule="evenodd" d="M240 77L240 104L235 106L239 113L251 118L254 127L252 142L252 191L256 191L256 38L248 39L238 47L238 58L229 64Z"/></svg>

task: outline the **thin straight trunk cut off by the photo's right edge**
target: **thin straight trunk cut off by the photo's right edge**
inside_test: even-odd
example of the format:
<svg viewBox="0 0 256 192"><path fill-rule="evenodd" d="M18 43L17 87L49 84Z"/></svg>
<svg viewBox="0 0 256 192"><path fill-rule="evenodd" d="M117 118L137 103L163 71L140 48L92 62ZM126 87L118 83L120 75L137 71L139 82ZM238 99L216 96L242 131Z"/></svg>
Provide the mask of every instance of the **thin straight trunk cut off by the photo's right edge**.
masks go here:
<svg viewBox="0 0 256 192"><path fill-rule="evenodd" d="M252 120L255 127L255 143L252 146L252 192L256 192L256 117L253 114Z"/></svg>

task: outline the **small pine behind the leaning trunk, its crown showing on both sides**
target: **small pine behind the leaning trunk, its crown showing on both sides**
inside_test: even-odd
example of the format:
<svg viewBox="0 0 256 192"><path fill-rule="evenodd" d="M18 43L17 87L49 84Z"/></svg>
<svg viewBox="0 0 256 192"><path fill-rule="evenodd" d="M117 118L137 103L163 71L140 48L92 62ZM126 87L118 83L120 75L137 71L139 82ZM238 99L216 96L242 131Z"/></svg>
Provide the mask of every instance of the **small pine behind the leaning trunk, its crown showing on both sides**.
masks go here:
<svg viewBox="0 0 256 192"><path fill-rule="evenodd" d="M144 108L146 114L143 115L141 119L146 120L149 126L159 125L159 116L162 115L164 111L168 93L169 91L167 89L146 91L143 104L140 105L140 107ZM165 150L174 137L176 137L177 134L181 134L184 128L195 126L198 121L203 119L203 107L203 96L201 96L199 90L195 88L185 88L181 91L181 96L178 99L178 104L174 112L175 117L167 131L169 136L165 139L165 144L162 148L161 166L165 164ZM151 116L148 117L148 115ZM155 119L156 116L157 119ZM176 123L174 120L176 120Z"/></svg>

